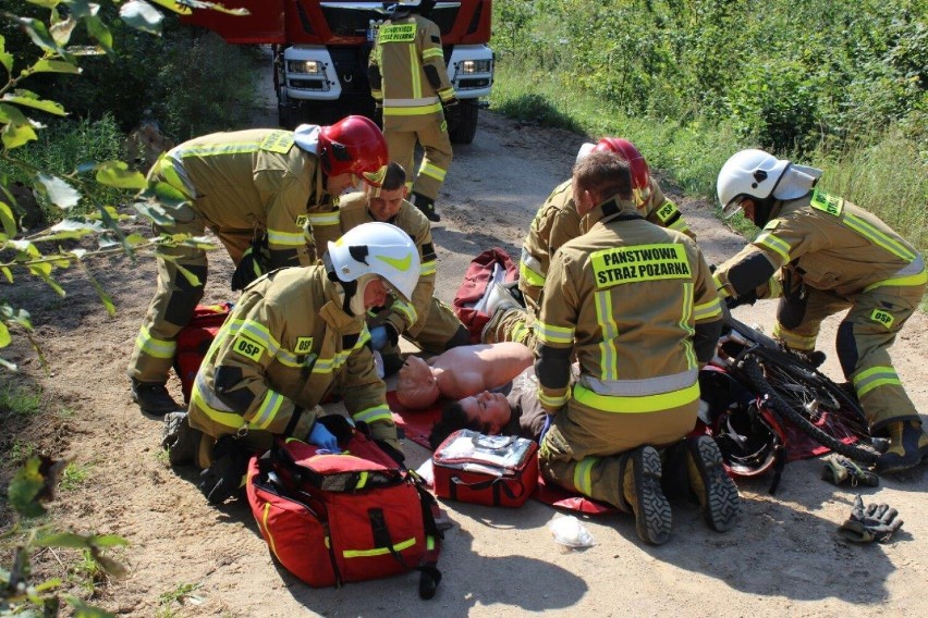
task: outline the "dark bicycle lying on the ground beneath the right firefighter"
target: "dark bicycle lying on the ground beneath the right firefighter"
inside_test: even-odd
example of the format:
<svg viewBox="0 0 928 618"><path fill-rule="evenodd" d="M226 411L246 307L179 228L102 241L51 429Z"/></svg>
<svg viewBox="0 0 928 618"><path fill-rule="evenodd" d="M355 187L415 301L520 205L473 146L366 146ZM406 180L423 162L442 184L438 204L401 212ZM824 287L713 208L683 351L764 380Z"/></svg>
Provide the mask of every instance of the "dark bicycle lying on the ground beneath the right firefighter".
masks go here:
<svg viewBox="0 0 928 618"><path fill-rule="evenodd" d="M733 373L773 411L817 443L862 464L876 464L882 446L870 437L856 396L797 353L725 311L711 364Z"/></svg>

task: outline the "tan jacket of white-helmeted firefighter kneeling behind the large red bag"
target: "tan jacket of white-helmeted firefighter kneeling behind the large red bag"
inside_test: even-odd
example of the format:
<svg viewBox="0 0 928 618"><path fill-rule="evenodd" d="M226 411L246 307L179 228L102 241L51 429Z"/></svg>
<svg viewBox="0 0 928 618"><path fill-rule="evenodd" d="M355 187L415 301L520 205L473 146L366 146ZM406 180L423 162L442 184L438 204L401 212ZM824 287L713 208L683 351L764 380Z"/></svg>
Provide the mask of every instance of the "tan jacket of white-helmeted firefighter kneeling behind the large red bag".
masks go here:
<svg viewBox="0 0 928 618"><path fill-rule="evenodd" d="M192 427L220 437L282 434L295 408L292 435L305 438L314 407L332 390L375 437L395 440L363 317L342 310L338 284L321 264L280 269L245 288L216 336L191 395Z"/></svg>

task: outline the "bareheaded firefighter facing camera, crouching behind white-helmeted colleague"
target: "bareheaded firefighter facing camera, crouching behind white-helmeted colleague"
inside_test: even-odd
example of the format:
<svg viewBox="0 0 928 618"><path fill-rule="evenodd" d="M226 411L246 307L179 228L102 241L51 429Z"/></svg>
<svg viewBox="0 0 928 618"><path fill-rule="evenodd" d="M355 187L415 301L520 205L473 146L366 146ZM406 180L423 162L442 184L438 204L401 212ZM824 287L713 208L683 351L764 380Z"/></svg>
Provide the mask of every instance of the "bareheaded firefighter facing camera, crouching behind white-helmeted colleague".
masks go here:
<svg viewBox="0 0 928 618"><path fill-rule="evenodd" d="M431 224L406 201L407 193L406 172L399 163L391 162L380 187L367 185L363 191L345 195L339 201L342 232L371 221L391 223L408 234L419 251L422 272L412 302L390 297L387 306L374 309L374 314L368 316L371 342L382 357L386 375L392 375L403 366L398 346L400 335L432 354L471 343L469 332L454 311L434 296L437 258Z"/></svg>

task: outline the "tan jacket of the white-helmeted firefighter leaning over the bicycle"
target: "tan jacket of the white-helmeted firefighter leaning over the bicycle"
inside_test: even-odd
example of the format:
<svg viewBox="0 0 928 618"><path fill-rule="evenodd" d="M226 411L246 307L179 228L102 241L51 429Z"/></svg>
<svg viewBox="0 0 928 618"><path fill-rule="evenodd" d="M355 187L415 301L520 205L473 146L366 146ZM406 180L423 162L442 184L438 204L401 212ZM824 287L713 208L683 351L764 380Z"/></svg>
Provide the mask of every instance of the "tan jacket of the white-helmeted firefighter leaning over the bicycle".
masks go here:
<svg viewBox="0 0 928 618"><path fill-rule="evenodd" d="M780 205L757 238L719 267L719 292L726 298L760 288L764 297L779 296L780 277L771 275L783 267L798 277L792 284L841 296L928 281L921 255L889 225L818 189Z"/></svg>

